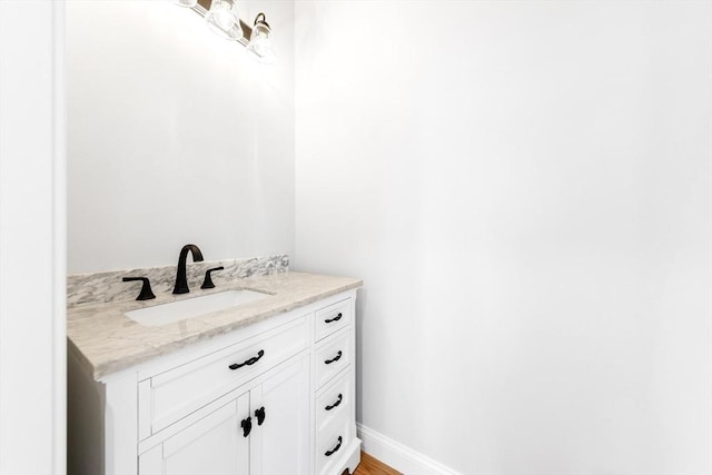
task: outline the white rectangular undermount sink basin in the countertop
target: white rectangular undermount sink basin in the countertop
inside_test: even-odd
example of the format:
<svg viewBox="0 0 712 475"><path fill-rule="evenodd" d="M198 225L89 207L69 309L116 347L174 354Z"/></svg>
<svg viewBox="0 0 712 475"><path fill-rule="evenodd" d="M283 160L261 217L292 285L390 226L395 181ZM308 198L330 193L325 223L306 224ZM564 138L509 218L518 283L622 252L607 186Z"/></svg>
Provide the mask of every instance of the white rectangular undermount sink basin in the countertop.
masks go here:
<svg viewBox="0 0 712 475"><path fill-rule="evenodd" d="M269 294L247 289L226 290L219 294L204 295L185 300L139 308L137 310L129 310L125 311L123 315L141 325L158 327L261 300L269 296Z"/></svg>

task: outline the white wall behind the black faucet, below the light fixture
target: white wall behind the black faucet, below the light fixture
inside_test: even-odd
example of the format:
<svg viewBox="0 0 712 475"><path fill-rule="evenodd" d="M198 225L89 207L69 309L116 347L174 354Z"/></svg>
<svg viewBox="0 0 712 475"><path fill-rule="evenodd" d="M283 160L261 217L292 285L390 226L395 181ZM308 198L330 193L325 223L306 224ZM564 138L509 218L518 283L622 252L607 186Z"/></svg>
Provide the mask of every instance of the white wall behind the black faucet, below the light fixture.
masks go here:
<svg viewBox="0 0 712 475"><path fill-rule="evenodd" d="M240 6L276 65L170 1L68 1L70 274L293 254L294 3Z"/></svg>

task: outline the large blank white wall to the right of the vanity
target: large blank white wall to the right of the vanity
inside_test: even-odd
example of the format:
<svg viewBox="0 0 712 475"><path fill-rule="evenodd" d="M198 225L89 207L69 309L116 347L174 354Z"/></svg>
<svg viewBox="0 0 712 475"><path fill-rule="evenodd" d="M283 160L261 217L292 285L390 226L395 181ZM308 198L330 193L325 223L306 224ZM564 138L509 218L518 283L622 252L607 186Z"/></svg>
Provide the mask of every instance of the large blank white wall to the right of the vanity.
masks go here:
<svg viewBox="0 0 712 475"><path fill-rule="evenodd" d="M299 1L295 268L465 474L712 472L709 1Z"/></svg>

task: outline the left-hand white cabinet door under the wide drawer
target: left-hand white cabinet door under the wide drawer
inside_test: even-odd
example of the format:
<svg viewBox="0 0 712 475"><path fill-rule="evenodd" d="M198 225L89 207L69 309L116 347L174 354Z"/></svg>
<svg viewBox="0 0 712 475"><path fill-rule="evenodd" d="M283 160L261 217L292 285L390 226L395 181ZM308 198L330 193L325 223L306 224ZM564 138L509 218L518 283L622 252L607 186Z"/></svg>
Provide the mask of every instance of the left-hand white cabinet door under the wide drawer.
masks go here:
<svg viewBox="0 0 712 475"><path fill-rule="evenodd" d="M139 457L139 475L248 475L249 393L217 408Z"/></svg>

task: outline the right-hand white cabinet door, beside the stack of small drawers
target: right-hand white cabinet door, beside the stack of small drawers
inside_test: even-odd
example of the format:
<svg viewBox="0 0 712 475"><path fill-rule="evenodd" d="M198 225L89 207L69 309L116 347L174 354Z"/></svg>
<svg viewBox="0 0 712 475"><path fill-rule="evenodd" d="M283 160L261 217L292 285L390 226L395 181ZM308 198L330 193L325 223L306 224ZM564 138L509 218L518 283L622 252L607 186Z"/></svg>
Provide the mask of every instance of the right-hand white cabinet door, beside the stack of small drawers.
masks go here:
<svg viewBox="0 0 712 475"><path fill-rule="evenodd" d="M270 375L251 390L250 399L250 474L306 475L310 464L309 355Z"/></svg>

